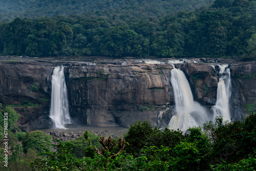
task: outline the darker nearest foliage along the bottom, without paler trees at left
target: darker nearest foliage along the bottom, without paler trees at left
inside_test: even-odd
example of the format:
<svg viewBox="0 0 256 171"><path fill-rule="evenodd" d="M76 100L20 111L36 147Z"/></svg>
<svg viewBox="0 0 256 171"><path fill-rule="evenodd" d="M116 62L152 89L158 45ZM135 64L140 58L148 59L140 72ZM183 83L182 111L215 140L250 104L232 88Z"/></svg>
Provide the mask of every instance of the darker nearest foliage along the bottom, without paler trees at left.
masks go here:
<svg viewBox="0 0 256 171"><path fill-rule="evenodd" d="M160 131L149 122L137 121L125 135L129 145L115 158L110 157L107 148L102 149L105 155L76 158L70 153L72 144L60 141L55 145L57 152L46 149L31 167L34 170L255 170L255 123L256 114L235 122L217 118L205 123L203 129L193 127L183 135L180 131ZM90 138L90 134L84 138ZM117 144L116 147L121 149Z"/></svg>

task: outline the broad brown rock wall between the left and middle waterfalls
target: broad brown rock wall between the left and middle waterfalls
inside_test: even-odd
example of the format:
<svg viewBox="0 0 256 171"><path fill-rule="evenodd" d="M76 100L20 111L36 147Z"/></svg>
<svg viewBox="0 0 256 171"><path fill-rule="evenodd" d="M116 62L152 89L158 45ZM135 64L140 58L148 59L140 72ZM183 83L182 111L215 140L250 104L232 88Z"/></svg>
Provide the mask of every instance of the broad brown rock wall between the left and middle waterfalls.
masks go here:
<svg viewBox="0 0 256 171"><path fill-rule="evenodd" d="M172 68L148 64L67 67L73 119L91 126L128 127L138 119L157 125L158 112L174 103L169 86Z"/></svg>

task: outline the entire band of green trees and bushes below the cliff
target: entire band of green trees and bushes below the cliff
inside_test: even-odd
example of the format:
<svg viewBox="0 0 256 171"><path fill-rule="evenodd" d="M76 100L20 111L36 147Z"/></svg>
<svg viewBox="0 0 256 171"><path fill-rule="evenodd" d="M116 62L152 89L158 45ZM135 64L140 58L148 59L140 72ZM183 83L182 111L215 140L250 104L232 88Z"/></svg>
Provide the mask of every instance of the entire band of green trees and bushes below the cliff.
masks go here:
<svg viewBox="0 0 256 171"><path fill-rule="evenodd" d="M3 114L9 125L4 127ZM71 141L56 140L41 131L20 132L17 114L0 103L0 152L4 129L8 132L8 167L1 170L255 170L256 114L239 121L217 117L202 127L163 130L150 122L136 121L124 138L99 137L88 131ZM42 145L40 145L42 144ZM5 152L6 154L6 152Z"/></svg>

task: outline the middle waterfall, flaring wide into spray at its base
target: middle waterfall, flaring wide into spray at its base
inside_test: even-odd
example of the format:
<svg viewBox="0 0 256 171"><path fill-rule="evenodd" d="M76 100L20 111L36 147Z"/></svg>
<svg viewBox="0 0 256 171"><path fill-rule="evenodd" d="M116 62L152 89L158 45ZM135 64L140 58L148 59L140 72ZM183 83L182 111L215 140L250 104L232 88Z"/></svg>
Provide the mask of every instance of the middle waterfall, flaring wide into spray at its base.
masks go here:
<svg viewBox="0 0 256 171"><path fill-rule="evenodd" d="M189 127L200 126L209 120L205 108L194 101L185 74L174 68L170 81L174 90L176 110L176 114L169 121L170 129L186 131Z"/></svg>

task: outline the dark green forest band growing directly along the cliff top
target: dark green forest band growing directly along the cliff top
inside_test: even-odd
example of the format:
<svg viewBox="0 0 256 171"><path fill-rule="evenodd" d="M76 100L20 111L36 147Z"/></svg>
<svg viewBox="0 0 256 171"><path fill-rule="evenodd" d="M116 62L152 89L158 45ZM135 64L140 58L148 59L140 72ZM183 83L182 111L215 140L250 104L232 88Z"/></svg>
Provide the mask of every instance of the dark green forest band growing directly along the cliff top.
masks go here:
<svg viewBox="0 0 256 171"><path fill-rule="evenodd" d="M255 59L255 0L216 0L195 11L162 16L140 17L129 9L2 22L0 54Z"/></svg>

